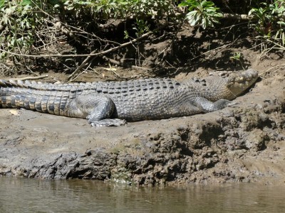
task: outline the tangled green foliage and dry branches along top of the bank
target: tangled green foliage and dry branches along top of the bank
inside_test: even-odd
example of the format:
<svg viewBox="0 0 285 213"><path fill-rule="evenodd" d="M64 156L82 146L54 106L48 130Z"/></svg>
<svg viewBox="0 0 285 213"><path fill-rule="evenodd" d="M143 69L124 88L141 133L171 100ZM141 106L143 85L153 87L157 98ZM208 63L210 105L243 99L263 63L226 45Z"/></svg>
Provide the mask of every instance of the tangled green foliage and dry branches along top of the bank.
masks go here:
<svg viewBox="0 0 285 213"><path fill-rule="evenodd" d="M175 41L185 21L198 31L243 22L257 43L284 50L284 17L285 0L0 0L0 68L59 60L78 72L92 56L161 36L163 28Z"/></svg>

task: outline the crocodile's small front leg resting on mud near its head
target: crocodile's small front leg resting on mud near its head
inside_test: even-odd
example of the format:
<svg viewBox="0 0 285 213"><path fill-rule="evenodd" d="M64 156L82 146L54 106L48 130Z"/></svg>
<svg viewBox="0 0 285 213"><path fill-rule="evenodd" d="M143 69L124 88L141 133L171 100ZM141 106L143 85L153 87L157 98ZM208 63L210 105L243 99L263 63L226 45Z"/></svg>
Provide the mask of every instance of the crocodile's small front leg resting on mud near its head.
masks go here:
<svg viewBox="0 0 285 213"><path fill-rule="evenodd" d="M193 103L195 107L198 107L201 111L207 113L211 111L217 111L219 109L224 109L224 107L235 104L234 102L230 102L226 99L219 99L217 102L210 102L204 97L195 98L195 102Z"/></svg>

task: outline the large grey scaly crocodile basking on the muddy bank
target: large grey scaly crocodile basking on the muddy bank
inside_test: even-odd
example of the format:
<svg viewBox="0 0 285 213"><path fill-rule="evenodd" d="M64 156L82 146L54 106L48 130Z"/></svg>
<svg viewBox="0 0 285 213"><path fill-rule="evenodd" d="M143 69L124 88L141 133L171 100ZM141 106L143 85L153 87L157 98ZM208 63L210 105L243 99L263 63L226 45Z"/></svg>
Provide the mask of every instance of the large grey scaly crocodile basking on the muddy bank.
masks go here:
<svg viewBox="0 0 285 213"><path fill-rule="evenodd" d="M182 82L167 78L121 82L48 83L0 80L0 108L24 108L88 119L92 126L169 119L223 109L257 80L255 70Z"/></svg>

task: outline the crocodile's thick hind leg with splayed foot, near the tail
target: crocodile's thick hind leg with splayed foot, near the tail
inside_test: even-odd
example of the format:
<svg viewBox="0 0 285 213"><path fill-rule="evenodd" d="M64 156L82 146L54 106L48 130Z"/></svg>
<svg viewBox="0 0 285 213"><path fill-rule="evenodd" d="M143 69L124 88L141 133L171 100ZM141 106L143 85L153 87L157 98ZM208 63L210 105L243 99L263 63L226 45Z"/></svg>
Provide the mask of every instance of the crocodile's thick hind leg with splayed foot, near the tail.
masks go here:
<svg viewBox="0 0 285 213"><path fill-rule="evenodd" d="M120 126L125 120L110 119L115 104L104 94L90 93L78 95L68 104L68 116L88 119L91 126Z"/></svg>

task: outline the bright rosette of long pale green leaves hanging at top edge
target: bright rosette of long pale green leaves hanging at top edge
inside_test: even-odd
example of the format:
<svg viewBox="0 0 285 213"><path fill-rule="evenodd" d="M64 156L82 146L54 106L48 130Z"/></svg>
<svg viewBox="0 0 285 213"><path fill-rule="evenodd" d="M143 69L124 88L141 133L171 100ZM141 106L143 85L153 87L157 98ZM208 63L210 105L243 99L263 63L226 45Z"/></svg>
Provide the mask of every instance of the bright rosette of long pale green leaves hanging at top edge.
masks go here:
<svg viewBox="0 0 285 213"><path fill-rule="evenodd" d="M214 6L212 1L207 0L185 0L179 6L187 6L189 13L186 18L191 26L200 25L202 28L214 27L214 23L219 23L222 13Z"/></svg>

